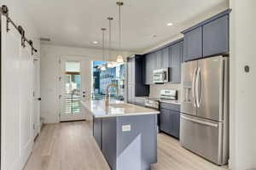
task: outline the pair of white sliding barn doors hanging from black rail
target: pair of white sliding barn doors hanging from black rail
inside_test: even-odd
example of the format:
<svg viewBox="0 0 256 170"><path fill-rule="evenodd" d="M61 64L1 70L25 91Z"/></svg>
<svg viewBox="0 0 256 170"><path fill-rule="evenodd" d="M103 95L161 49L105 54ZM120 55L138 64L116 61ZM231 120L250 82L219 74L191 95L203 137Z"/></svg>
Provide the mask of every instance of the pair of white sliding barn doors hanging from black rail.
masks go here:
<svg viewBox="0 0 256 170"><path fill-rule="evenodd" d="M1 169L21 170L32 151L32 56L1 16Z"/></svg>

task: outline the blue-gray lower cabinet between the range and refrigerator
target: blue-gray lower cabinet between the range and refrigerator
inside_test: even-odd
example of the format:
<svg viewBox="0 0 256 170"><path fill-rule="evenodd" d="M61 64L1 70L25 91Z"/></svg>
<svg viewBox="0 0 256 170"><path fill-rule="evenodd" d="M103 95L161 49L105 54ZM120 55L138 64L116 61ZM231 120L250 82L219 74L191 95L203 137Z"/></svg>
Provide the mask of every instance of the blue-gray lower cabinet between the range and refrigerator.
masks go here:
<svg viewBox="0 0 256 170"><path fill-rule="evenodd" d="M168 133L179 139L180 106L173 104L160 104L160 131Z"/></svg>

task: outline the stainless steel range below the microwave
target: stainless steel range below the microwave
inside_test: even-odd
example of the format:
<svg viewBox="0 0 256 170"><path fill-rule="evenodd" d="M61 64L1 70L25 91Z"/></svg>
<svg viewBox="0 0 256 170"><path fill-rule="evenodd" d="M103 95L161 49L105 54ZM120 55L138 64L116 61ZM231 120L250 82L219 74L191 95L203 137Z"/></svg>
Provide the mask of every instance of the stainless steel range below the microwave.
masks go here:
<svg viewBox="0 0 256 170"><path fill-rule="evenodd" d="M147 98L145 106L159 110L161 100L177 101L177 90L161 90L160 98Z"/></svg>

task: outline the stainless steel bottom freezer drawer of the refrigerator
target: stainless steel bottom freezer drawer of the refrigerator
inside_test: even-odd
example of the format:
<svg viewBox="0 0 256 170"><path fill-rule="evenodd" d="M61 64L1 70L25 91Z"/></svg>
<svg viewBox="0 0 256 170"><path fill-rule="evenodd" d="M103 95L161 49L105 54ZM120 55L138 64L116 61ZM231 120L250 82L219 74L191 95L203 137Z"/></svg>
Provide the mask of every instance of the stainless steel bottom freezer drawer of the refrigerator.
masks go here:
<svg viewBox="0 0 256 170"><path fill-rule="evenodd" d="M180 144L205 157L209 161L223 165L223 122L213 122L195 116L181 116Z"/></svg>

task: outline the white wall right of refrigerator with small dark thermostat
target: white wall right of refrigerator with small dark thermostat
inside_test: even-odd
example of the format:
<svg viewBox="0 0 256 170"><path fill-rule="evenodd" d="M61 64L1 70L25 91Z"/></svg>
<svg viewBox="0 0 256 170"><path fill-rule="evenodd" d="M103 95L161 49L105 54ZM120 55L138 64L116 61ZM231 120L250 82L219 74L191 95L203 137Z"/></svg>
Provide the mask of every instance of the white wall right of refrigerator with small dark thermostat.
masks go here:
<svg viewBox="0 0 256 170"><path fill-rule="evenodd" d="M256 1L230 0L230 167L256 167ZM250 72L244 66L250 66Z"/></svg>

